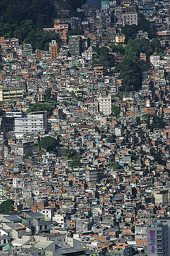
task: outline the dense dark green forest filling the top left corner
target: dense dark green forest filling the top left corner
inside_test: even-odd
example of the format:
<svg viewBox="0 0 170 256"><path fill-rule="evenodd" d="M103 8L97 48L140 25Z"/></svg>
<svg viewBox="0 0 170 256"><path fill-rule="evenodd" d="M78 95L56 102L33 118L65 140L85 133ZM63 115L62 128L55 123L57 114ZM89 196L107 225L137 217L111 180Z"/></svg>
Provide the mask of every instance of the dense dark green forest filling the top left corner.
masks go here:
<svg viewBox="0 0 170 256"><path fill-rule="evenodd" d="M20 43L31 44L33 50L48 50L51 40L61 45L55 32L44 32L53 26L54 6L50 0L2 0L0 3L0 34L17 37Z"/></svg>

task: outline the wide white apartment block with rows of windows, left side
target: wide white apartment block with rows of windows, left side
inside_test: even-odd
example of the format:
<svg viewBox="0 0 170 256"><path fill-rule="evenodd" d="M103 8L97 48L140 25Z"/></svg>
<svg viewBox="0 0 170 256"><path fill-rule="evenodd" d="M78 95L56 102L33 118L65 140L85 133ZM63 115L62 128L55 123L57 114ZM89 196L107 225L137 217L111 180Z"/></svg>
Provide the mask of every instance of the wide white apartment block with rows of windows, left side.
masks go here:
<svg viewBox="0 0 170 256"><path fill-rule="evenodd" d="M16 136L38 132L47 132L46 111L32 112L25 118L15 118Z"/></svg>

